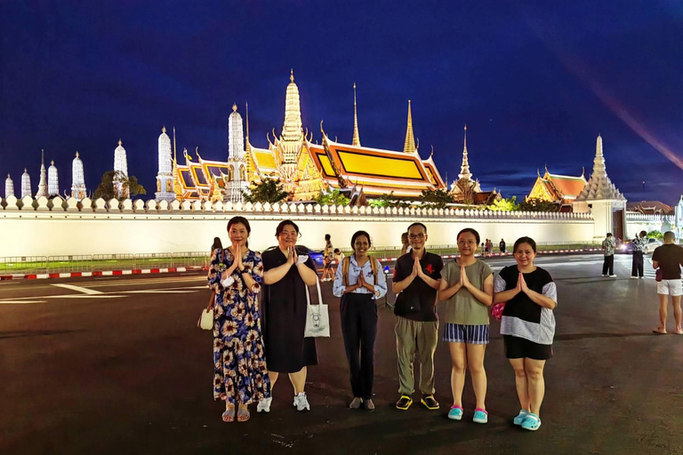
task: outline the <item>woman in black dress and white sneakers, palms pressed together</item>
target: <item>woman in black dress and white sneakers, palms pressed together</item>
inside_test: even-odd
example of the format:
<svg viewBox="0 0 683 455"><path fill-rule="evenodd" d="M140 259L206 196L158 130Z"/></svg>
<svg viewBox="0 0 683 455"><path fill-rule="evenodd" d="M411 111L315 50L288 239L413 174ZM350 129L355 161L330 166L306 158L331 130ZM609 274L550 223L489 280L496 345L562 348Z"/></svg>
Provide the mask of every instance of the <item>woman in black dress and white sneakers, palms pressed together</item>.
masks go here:
<svg viewBox="0 0 683 455"><path fill-rule="evenodd" d="M279 373L288 373L294 387L297 411L310 410L304 392L306 367L317 365L316 339L304 338L306 328L306 286L317 282L313 259L299 255L295 245L299 227L282 221L275 232L277 248L264 251L263 339L271 387ZM272 398L259 403L257 411L270 411Z"/></svg>

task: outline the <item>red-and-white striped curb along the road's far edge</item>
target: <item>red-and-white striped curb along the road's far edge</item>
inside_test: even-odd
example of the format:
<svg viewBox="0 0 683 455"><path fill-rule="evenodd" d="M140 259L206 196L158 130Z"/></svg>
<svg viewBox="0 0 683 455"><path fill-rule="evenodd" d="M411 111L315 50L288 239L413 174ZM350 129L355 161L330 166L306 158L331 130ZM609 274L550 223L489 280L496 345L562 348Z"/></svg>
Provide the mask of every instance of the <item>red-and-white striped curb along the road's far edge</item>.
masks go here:
<svg viewBox="0 0 683 455"><path fill-rule="evenodd" d="M539 251L539 254L559 254L567 252L587 252L587 251L602 251L600 248L585 248L581 250L549 250ZM478 255L481 257L481 255ZM486 258L499 258L512 256L511 252L494 252L485 255ZM457 254L445 254L441 256L443 259L457 258ZM392 262L398 258L382 258L378 259L380 262ZM101 270L94 272L68 272L60 274L12 274L0 275L0 281L6 280L45 280L49 278L80 278L84 276L119 276L119 275L146 275L146 274L169 274L179 272L195 272L197 270L206 270L207 267L168 267L168 268L136 268L134 270Z"/></svg>

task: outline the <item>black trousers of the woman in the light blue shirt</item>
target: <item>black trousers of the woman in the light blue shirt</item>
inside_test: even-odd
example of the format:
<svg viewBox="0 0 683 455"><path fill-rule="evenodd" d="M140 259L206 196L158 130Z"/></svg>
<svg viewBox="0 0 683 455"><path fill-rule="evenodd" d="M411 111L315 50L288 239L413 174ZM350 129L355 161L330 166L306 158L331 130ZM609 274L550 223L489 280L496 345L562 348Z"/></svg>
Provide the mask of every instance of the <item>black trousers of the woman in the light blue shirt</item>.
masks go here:
<svg viewBox="0 0 683 455"><path fill-rule="evenodd" d="M372 294L342 296L342 335L351 373L353 396L373 397L374 339L377 336L377 305Z"/></svg>

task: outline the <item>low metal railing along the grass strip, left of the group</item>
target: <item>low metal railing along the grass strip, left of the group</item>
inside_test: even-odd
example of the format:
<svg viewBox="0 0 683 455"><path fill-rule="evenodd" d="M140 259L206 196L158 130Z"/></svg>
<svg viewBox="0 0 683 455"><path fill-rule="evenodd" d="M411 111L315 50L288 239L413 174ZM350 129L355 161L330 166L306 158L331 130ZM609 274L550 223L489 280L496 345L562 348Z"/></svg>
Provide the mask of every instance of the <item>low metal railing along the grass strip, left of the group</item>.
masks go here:
<svg viewBox="0 0 683 455"><path fill-rule="evenodd" d="M40 275L146 268L206 267L204 251L83 256L17 256L0 258L0 275Z"/></svg>

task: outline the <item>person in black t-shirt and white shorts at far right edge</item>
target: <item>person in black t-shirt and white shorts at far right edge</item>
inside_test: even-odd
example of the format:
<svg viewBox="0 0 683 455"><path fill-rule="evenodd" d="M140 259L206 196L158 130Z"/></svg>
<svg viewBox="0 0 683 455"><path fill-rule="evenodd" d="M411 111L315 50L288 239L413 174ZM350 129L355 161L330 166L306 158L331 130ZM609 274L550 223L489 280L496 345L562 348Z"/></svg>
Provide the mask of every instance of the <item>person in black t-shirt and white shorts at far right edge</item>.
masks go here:
<svg viewBox="0 0 683 455"><path fill-rule="evenodd" d="M680 313L680 296L683 284L680 281L680 267L683 266L683 247L675 244L676 235L671 231L664 233L664 244L652 253L652 267L657 269L657 295L659 296L659 327L655 333L666 333L666 316L671 296L673 318L676 321L674 333L683 335L683 321Z"/></svg>

